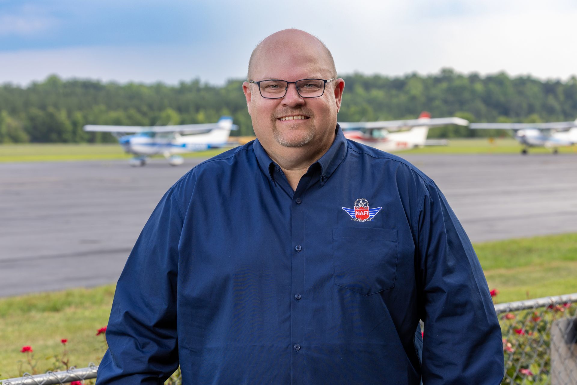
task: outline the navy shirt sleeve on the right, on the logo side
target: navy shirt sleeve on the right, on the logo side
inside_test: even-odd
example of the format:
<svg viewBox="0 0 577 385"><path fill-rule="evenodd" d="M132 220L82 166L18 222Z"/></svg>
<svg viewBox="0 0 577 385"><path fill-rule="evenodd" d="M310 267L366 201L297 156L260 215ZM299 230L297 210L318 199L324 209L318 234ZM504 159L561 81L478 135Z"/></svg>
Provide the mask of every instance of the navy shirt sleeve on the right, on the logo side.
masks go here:
<svg viewBox="0 0 577 385"><path fill-rule="evenodd" d="M434 182L426 185L417 215L417 243L423 382L500 384L503 342L485 275Z"/></svg>

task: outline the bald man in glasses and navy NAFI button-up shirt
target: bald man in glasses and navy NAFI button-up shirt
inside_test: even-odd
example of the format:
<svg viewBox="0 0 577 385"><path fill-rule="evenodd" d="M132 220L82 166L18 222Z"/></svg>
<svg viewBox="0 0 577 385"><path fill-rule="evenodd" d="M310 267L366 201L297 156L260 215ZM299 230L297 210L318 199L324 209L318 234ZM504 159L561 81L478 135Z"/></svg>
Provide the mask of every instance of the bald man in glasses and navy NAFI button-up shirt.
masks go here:
<svg viewBox="0 0 577 385"><path fill-rule="evenodd" d="M160 201L118 281L98 384L498 384L481 266L437 186L347 141L344 81L295 29L254 50L257 140ZM425 324L422 364L415 351Z"/></svg>

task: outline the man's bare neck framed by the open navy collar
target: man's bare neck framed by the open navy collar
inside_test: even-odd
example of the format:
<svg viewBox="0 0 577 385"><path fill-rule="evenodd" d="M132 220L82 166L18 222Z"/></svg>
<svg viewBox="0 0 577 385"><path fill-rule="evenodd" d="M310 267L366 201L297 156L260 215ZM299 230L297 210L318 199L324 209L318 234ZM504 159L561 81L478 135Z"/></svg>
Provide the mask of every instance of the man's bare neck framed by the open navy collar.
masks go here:
<svg viewBox="0 0 577 385"><path fill-rule="evenodd" d="M268 151L268 156L280 166L293 191L297 190L298 182L306 174L310 165L319 160L331 148L335 136L323 147L312 149L308 146L294 148L280 148L282 151Z"/></svg>

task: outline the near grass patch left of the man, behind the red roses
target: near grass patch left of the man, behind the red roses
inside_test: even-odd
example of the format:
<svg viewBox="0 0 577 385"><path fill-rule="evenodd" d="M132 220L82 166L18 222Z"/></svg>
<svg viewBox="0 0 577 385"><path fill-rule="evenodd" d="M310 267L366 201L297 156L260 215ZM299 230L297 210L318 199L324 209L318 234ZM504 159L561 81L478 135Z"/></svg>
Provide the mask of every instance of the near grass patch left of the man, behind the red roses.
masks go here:
<svg viewBox="0 0 577 385"><path fill-rule="evenodd" d="M113 296L114 285L107 285L0 299L0 379L21 375L20 364L32 372L20 353L25 345L33 349L38 373L54 368L63 338L70 365L98 364L106 349L96 331L108 322Z"/></svg>

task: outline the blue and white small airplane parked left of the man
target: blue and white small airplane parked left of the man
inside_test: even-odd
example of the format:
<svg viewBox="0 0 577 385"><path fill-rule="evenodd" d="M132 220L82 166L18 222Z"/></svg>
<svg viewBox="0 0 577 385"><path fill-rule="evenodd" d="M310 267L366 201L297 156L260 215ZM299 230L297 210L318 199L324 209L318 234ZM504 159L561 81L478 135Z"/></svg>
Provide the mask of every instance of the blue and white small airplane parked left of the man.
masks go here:
<svg viewBox="0 0 577 385"><path fill-rule="evenodd" d="M149 156L164 155L171 166L182 165L184 152L204 151L228 145L233 118L223 116L218 123L174 126L100 126L86 125L85 131L110 132L125 152L134 154L130 166L144 166ZM133 134L128 134L133 133Z"/></svg>

